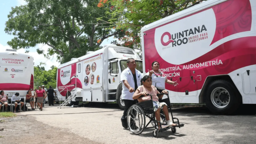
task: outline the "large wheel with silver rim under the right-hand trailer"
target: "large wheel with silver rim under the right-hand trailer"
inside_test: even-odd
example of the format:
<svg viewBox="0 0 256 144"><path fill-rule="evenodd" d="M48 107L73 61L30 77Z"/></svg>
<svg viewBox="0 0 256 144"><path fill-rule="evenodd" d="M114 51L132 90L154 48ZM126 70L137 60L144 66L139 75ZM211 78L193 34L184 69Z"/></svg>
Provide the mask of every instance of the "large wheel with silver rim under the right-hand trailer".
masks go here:
<svg viewBox="0 0 256 144"><path fill-rule="evenodd" d="M214 114L233 114L240 105L239 92L226 80L212 82L206 93L206 106Z"/></svg>

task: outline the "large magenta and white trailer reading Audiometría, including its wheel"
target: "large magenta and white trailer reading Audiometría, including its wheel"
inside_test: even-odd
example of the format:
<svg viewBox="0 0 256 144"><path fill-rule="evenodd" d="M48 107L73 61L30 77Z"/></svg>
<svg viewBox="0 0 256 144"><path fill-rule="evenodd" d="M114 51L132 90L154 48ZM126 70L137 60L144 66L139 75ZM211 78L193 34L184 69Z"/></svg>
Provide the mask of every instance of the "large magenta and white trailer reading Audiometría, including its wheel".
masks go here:
<svg viewBox="0 0 256 144"><path fill-rule="evenodd" d="M157 60L171 103L229 114L256 104L256 1L208 0L142 28L144 74Z"/></svg>

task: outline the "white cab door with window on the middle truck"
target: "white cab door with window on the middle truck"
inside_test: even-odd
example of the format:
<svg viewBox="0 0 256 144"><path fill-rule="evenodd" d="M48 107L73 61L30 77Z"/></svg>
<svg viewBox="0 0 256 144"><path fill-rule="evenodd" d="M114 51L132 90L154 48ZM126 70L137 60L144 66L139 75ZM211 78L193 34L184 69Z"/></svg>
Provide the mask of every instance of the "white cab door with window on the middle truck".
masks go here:
<svg viewBox="0 0 256 144"><path fill-rule="evenodd" d="M108 89L117 89L120 82L120 72L118 60L113 60L109 62L109 72L108 72Z"/></svg>

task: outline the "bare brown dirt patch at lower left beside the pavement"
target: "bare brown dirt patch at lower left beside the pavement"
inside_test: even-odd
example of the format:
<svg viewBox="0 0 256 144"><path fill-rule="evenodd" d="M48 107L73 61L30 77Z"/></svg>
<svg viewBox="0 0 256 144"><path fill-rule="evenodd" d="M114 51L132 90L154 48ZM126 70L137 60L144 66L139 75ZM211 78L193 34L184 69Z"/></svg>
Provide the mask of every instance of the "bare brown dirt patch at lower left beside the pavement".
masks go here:
<svg viewBox="0 0 256 144"><path fill-rule="evenodd" d="M0 118L0 141L12 144L100 144L87 138L68 132L68 129L57 129L50 125L36 121L32 116L18 116L14 118ZM0 142L1 143L1 142Z"/></svg>

